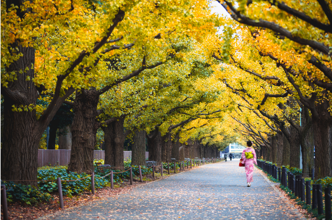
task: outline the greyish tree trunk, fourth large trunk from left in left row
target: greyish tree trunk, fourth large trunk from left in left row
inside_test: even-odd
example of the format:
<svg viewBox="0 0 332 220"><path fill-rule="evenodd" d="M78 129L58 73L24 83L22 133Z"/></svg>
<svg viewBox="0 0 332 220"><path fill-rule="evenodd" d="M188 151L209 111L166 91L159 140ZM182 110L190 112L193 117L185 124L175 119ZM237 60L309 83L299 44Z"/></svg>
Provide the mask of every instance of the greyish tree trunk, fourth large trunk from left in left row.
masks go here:
<svg viewBox="0 0 332 220"><path fill-rule="evenodd" d="M145 166L146 131L136 131L131 145L131 166Z"/></svg>

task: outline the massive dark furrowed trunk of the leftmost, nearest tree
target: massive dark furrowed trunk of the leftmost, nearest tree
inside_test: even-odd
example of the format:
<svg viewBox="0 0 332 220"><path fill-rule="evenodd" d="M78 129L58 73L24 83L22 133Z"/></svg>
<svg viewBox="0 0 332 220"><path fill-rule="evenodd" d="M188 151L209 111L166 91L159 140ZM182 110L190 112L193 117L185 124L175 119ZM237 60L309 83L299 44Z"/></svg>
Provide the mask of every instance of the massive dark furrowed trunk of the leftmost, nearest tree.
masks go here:
<svg viewBox="0 0 332 220"><path fill-rule="evenodd" d="M10 2L7 2L10 4ZM17 5L17 4L15 4ZM7 5L8 6L8 5ZM20 10L18 10L20 11ZM18 60L13 61L6 72L15 72L17 80L1 88L4 102L4 132L1 148L1 179L2 180L36 180L38 167L38 143L42 132L36 119L36 111L12 111L13 105L29 106L36 104L38 91L33 80L35 78L35 49L22 47L15 41L11 48L18 48L22 53ZM16 51L14 51L15 53ZM27 71L24 71L28 67ZM23 73L20 71L23 70ZM37 181L21 181L18 183L37 186Z"/></svg>

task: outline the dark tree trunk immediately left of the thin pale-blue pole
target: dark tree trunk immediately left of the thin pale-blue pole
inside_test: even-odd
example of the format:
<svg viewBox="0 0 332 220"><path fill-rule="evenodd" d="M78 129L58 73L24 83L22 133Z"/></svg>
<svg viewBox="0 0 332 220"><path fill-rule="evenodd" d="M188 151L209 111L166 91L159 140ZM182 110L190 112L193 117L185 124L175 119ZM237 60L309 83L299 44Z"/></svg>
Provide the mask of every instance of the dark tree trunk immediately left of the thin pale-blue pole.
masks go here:
<svg viewBox="0 0 332 220"><path fill-rule="evenodd" d="M300 168L300 135L290 126L290 167Z"/></svg>

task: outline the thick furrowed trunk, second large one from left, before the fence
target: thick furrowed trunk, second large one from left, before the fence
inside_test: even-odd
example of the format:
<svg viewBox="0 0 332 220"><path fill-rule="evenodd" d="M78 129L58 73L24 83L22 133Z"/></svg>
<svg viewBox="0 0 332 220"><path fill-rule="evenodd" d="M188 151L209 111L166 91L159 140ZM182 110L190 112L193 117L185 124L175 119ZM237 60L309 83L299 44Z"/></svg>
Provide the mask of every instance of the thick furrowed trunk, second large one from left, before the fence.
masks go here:
<svg viewBox="0 0 332 220"><path fill-rule="evenodd" d="M96 117L99 95L96 89L76 91L74 118L71 125L72 148L68 171L91 173L93 167L93 151L99 122Z"/></svg>

